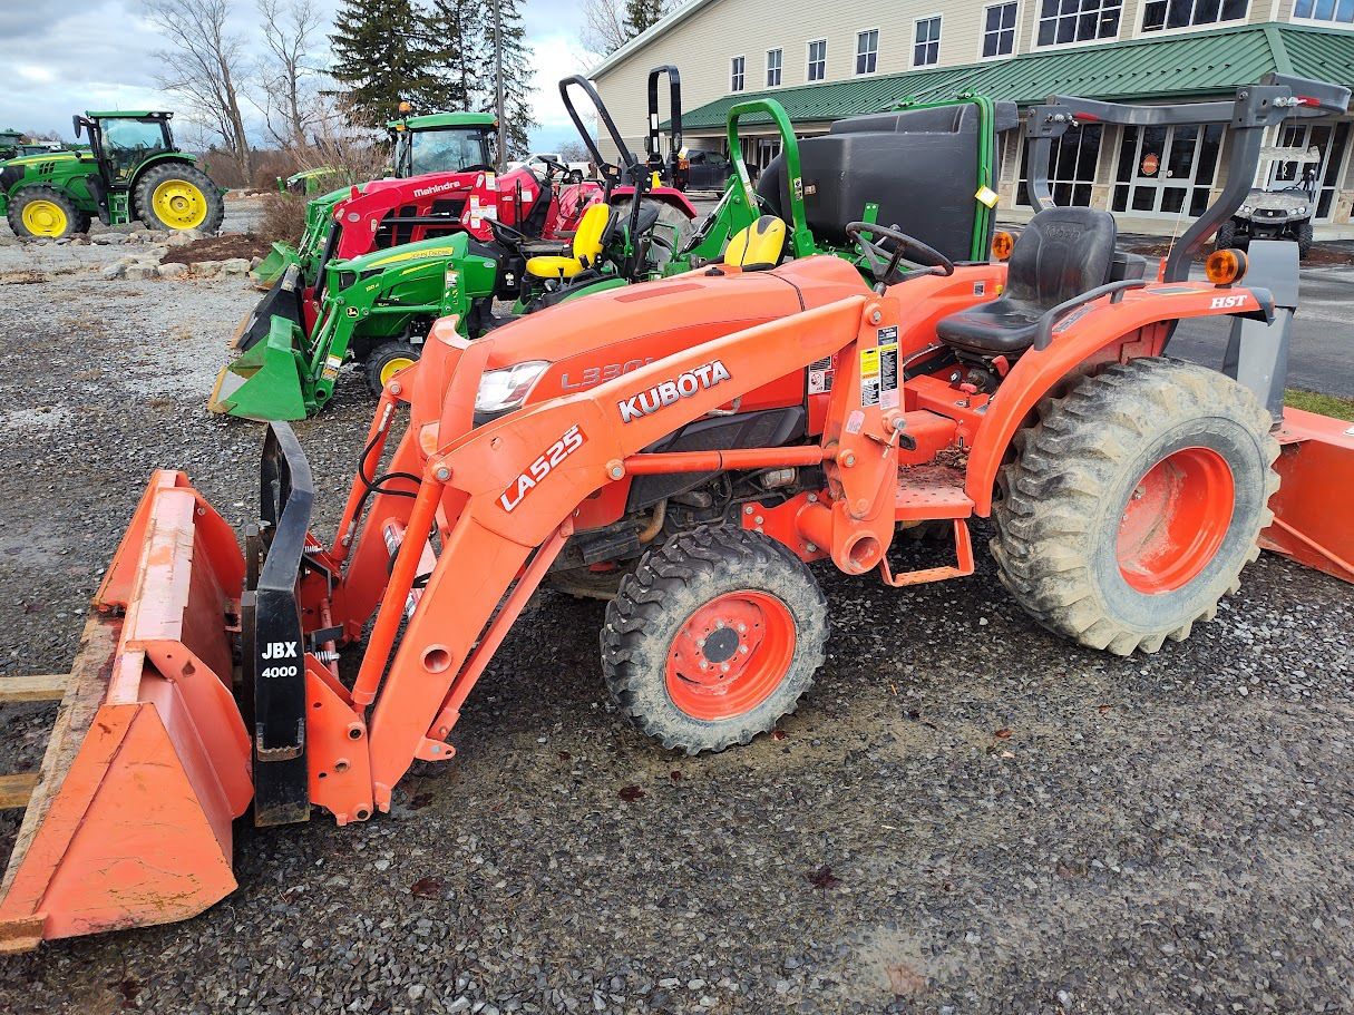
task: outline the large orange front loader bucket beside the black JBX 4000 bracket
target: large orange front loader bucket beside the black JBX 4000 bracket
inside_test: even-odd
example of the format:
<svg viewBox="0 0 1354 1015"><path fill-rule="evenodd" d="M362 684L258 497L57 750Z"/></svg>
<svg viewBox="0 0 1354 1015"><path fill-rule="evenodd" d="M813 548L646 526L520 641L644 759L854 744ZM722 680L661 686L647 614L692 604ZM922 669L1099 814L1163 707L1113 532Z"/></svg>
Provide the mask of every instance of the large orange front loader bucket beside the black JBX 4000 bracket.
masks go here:
<svg viewBox="0 0 1354 1015"><path fill-rule="evenodd" d="M234 889L232 819L252 796L230 692L244 570L225 520L181 472L156 472L65 682L0 882L0 951L183 920Z"/></svg>

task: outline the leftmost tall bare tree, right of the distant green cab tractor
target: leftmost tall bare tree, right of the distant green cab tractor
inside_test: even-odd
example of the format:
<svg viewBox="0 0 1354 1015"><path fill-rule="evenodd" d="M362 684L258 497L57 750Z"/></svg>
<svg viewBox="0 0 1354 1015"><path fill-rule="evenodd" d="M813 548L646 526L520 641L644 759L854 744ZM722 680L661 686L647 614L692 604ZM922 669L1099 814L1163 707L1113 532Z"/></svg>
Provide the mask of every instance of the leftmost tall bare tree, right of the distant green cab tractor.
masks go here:
<svg viewBox="0 0 1354 1015"><path fill-rule="evenodd" d="M156 53L160 87L177 92L207 119L240 164L252 175L253 153L240 111L244 47L226 30L230 0L144 0L146 19L169 47Z"/></svg>

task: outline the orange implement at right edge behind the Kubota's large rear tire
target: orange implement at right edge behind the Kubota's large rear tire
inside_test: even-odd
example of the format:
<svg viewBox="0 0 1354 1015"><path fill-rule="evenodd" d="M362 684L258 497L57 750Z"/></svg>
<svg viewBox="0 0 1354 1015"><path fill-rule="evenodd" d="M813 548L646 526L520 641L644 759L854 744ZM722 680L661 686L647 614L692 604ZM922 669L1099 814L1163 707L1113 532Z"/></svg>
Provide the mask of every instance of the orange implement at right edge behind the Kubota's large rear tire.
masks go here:
<svg viewBox="0 0 1354 1015"><path fill-rule="evenodd" d="M1274 524L1261 545L1326 574L1354 582L1354 424L1301 409L1284 410L1274 467Z"/></svg>

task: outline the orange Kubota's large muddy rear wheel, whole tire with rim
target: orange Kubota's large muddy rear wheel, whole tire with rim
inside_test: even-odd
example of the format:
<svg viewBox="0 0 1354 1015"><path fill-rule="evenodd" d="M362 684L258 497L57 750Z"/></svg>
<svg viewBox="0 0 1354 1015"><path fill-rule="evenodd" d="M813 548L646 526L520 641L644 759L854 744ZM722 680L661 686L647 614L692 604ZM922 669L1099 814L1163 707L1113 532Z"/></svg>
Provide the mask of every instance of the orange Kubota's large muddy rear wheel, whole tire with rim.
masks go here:
<svg viewBox="0 0 1354 1015"><path fill-rule="evenodd" d="M1167 357L1045 399L1002 468L1002 585L1049 631L1131 655L1212 620L1259 556L1278 443L1255 397Z"/></svg>

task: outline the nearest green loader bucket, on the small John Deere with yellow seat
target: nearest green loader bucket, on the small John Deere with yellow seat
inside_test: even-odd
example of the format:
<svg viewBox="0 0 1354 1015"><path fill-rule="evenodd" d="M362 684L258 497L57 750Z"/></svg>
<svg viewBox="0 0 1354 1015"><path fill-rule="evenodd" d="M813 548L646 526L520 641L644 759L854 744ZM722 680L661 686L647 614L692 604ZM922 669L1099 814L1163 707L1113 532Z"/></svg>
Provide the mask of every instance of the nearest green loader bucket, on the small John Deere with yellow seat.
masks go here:
<svg viewBox="0 0 1354 1015"><path fill-rule="evenodd" d="M267 341L221 368L207 409L245 420L305 420L313 403L305 336L291 318L268 318Z"/></svg>

